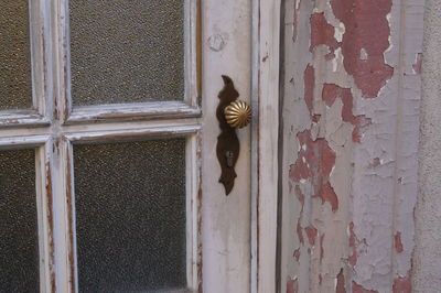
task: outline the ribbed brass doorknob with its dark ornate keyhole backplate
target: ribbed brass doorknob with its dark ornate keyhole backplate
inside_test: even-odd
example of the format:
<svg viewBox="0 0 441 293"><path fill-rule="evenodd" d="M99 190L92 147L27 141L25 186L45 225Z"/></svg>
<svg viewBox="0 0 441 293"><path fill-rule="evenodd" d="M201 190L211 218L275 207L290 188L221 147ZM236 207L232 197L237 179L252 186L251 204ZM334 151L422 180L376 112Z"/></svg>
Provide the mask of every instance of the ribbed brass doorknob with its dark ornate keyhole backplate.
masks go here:
<svg viewBox="0 0 441 293"><path fill-rule="evenodd" d="M220 134L217 137L216 153L222 173L219 183L224 184L225 194L228 195L237 177L235 166L239 158L239 139L236 128L244 128L251 121L251 108L243 100L237 100L239 93L236 90L232 78L223 75L224 88L218 98L219 105L216 117L219 121Z"/></svg>

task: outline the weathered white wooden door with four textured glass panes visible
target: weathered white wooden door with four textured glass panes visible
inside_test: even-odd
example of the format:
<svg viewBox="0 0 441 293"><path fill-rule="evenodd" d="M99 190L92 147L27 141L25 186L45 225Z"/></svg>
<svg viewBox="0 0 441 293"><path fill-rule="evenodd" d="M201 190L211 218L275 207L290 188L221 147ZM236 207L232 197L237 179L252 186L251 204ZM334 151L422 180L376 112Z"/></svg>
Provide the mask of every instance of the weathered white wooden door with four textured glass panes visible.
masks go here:
<svg viewBox="0 0 441 293"><path fill-rule="evenodd" d="M0 291L249 292L251 1L1 3Z"/></svg>

